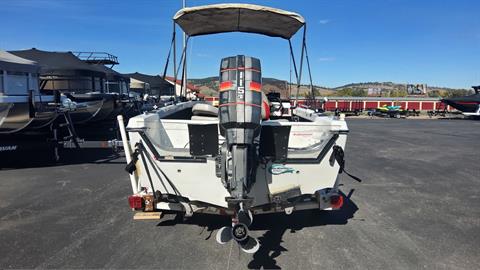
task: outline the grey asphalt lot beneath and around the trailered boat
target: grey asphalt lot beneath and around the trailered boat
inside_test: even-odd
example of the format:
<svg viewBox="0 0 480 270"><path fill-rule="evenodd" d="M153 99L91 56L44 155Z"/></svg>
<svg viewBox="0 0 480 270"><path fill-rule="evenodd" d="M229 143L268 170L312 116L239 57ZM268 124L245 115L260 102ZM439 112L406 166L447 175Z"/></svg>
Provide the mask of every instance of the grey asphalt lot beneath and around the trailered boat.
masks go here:
<svg viewBox="0 0 480 270"><path fill-rule="evenodd" d="M0 268L480 269L480 121L349 120L355 189L334 213L257 217L255 255L227 220L133 221L122 158L0 171ZM93 162L95 160L95 162Z"/></svg>

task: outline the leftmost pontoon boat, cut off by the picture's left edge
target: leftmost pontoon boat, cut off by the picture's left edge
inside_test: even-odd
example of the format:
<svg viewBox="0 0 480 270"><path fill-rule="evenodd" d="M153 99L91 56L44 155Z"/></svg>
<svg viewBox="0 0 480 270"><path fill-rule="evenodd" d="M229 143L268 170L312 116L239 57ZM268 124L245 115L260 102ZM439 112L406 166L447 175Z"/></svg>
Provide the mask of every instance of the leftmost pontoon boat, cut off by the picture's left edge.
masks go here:
<svg viewBox="0 0 480 270"><path fill-rule="evenodd" d="M54 97L39 91L37 63L0 51L0 134L38 130L57 117Z"/></svg>

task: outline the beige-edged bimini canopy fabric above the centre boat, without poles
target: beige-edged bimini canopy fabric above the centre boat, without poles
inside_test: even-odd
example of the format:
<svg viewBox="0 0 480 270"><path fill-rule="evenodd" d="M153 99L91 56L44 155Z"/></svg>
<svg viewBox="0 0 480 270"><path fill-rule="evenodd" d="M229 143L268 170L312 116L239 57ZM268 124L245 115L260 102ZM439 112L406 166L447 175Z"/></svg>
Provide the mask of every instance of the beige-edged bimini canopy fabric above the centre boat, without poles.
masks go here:
<svg viewBox="0 0 480 270"><path fill-rule="evenodd" d="M217 4L181 9L173 20L189 36L247 32L290 39L304 24L297 13L250 4Z"/></svg>

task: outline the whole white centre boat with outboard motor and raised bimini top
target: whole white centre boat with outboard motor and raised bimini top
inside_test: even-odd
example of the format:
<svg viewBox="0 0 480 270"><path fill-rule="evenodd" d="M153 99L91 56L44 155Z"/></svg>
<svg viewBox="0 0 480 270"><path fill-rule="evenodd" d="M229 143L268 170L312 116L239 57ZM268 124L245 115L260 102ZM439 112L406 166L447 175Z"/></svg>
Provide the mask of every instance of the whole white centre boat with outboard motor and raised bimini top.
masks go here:
<svg viewBox="0 0 480 270"><path fill-rule="evenodd" d="M297 93L304 58L310 73L306 23L297 13L216 4L183 8L173 23L185 32L187 46L191 37L226 32L277 37L291 45L303 29L299 69L294 61ZM293 57L292 46L290 53ZM217 231L217 242L234 240L254 253L260 244L249 226L256 215L342 207L339 173L349 132L343 115L298 106L297 94L291 115L270 118L261 73L259 58L223 57L218 108L185 101L130 118L127 127L119 119L133 193L128 201L139 218L160 211L226 215L232 223Z"/></svg>

